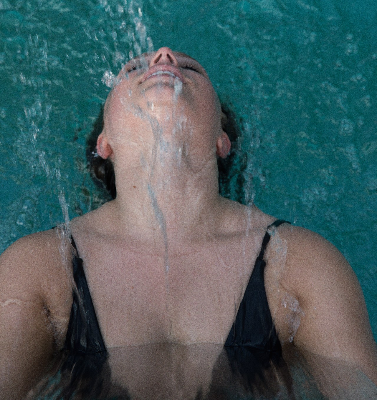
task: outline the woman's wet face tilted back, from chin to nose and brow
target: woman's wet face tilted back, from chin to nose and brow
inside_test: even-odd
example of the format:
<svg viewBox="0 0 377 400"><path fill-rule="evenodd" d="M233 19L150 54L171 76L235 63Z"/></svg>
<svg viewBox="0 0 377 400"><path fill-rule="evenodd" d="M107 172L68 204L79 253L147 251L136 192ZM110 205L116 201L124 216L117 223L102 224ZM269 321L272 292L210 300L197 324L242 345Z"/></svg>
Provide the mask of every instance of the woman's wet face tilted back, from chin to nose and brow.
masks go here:
<svg viewBox="0 0 377 400"><path fill-rule="evenodd" d="M122 68L106 100L104 121L114 151L122 144L148 148L157 139L171 149L203 153L212 151L222 134L220 101L206 71L167 47Z"/></svg>

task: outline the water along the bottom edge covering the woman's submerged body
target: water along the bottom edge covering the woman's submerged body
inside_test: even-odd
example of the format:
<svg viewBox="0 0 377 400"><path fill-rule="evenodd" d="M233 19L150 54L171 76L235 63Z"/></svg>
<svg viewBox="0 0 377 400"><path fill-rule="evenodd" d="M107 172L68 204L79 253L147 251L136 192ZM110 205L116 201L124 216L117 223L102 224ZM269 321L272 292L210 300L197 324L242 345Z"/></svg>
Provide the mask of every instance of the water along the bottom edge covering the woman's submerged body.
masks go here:
<svg viewBox="0 0 377 400"><path fill-rule="evenodd" d="M62 353L27 399L375 399L351 364L299 352L216 344L147 344L89 356Z"/></svg>

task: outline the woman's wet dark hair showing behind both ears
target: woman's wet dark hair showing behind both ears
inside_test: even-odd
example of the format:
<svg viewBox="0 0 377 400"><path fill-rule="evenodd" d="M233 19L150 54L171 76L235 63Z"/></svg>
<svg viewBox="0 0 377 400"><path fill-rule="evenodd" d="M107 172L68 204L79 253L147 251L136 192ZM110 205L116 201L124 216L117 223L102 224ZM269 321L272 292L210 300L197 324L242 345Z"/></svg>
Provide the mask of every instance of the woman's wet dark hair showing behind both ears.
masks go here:
<svg viewBox="0 0 377 400"><path fill-rule="evenodd" d="M222 105L222 112L226 118L222 118L222 128L228 134L230 142L232 143L232 149L227 158L218 157L218 169L219 169L219 191L222 196L229 197L230 193L230 177L229 172L232 164L234 163L234 157L236 155L236 149L234 146L236 140L240 136L240 128L236 123L235 114L230 108ZM97 138L103 130L103 106L99 112L94 124L93 130L87 138L87 161L89 165L89 171L95 183L105 188L113 199L117 197L117 189L115 188L115 172L113 163L108 158L104 160L97 154Z"/></svg>

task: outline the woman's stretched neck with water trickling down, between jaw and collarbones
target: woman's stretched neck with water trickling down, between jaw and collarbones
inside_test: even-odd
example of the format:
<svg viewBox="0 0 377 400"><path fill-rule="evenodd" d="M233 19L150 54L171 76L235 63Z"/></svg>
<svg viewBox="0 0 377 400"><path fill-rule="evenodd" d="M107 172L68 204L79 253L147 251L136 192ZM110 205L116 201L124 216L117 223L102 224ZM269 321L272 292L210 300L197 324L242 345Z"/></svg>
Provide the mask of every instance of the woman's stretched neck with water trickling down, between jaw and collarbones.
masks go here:
<svg viewBox="0 0 377 400"><path fill-rule="evenodd" d="M198 156L200 160L194 158L163 152L141 165L129 157L118 157L113 206L119 226L143 237L160 232L163 238L172 235L176 239L198 237L199 226L208 229L220 215L222 199L216 156L212 151L207 157Z"/></svg>

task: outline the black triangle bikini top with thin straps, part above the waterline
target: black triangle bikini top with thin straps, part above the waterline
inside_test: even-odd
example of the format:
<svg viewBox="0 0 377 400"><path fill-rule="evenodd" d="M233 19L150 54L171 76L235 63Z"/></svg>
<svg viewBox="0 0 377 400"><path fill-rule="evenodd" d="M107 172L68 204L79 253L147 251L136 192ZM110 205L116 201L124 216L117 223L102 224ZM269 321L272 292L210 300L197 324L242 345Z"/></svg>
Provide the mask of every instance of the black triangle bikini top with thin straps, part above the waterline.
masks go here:
<svg viewBox="0 0 377 400"><path fill-rule="evenodd" d="M277 228L284 222L287 221L276 220L266 230L262 248L240 303L236 320L225 342L226 348L248 346L267 353L277 352L281 354L281 344L274 327L264 288L264 267L266 262L263 257L271 237L268 231L272 228ZM79 257L73 238L71 238L71 242L75 249L73 277L77 290L73 290L73 303L64 349L81 354L106 352L85 278L83 260Z"/></svg>

